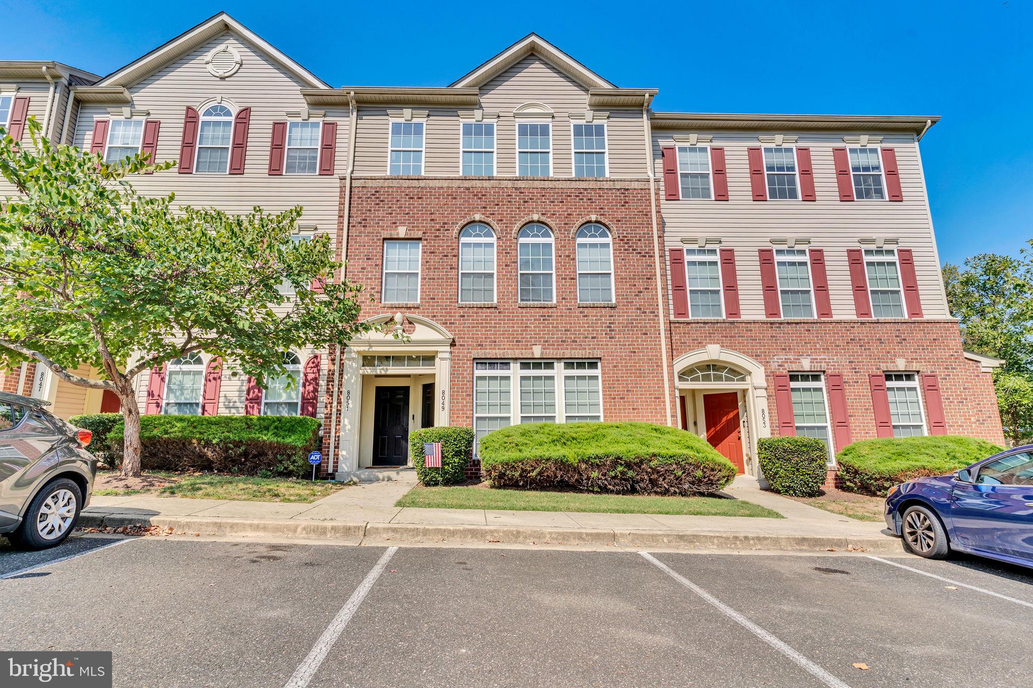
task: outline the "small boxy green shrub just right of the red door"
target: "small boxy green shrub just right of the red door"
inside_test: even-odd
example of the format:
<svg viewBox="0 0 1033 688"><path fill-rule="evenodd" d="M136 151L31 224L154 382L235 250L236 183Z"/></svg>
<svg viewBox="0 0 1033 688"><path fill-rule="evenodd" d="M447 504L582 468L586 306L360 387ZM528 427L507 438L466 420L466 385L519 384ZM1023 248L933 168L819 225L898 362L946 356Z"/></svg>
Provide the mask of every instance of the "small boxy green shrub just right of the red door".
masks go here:
<svg viewBox="0 0 1033 688"><path fill-rule="evenodd" d="M793 497L813 497L828 474L828 450L814 437L761 437L757 461L772 490Z"/></svg>

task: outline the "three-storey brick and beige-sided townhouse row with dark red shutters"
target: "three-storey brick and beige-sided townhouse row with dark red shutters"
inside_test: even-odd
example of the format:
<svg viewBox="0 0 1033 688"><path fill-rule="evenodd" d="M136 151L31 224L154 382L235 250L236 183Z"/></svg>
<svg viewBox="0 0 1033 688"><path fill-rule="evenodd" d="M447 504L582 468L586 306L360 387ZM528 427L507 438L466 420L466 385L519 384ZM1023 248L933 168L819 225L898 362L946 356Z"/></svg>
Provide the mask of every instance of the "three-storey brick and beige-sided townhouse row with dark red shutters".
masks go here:
<svg viewBox="0 0 1033 688"><path fill-rule="evenodd" d="M867 437L1001 441L998 361L962 351L939 272L918 151L937 118L656 94L534 34L448 86L332 88L224 13L102 77L0 63L0 124L178 161L143 193L304 205L299 240L330 233L384 325L286 352L296 384L268 389L174 361L142 376L145 413L312 415L340 478L448 424L670 424L753 474L773 434L825 439L831 469ZM2 384L105 403L31 364Z"/></svg>

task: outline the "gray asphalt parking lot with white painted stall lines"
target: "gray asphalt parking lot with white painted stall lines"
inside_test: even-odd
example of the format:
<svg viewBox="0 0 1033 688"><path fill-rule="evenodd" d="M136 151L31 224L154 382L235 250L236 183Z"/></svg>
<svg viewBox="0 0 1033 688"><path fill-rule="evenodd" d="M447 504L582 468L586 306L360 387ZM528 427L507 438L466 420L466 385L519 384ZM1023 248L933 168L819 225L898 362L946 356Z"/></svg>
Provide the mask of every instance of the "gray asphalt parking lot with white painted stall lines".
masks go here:
<svg viewBox="0 0 1033 688"><path fill-rule="evenodd" d="M69 555L79 556L54 561ZM42 555L0 545L0 577L9 577L0 580L0 649L112 650L115 685L134 687L1033 678L1025 569L864 555L651 556L96 536Z"/></svg>

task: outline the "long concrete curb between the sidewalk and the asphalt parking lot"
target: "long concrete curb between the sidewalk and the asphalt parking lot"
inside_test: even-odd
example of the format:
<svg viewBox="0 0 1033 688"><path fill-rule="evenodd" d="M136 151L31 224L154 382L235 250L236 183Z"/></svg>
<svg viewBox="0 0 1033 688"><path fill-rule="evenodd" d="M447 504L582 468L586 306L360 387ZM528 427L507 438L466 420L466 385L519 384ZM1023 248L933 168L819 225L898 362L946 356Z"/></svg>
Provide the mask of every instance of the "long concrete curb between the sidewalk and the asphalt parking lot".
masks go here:
<svg viewBox="0 0 1033 688"><path fill-rule="evenodd" d="M701 550L859 550L903 552L897 537L843 535L777 535L759 532L693 532L684 530L614 530L611 528L549 528L419 523L345 523L302 519L234 519L202 516L138 516L83 514L86 528L154 525L176 532L204 535L274 535L327 538L349 545L576 545L622 548L685 548Z"/></svg>

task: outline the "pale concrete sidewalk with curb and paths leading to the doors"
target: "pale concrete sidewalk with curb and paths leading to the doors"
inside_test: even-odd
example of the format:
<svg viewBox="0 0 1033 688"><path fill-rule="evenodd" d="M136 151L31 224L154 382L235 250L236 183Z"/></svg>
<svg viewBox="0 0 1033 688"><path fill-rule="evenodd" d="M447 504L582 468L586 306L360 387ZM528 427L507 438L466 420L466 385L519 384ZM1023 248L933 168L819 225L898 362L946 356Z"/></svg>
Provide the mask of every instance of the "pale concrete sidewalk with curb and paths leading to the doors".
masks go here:
<svg viewBox="0 0 1033 688"><path fill-rule="evenodd" d="M415 485L408 480L364 483L318 501L274 503L182 497L94 497L85 527L150 524L202 534L332 537L356 544L509 543L653 546L707 549L866 549L900 551L881 523L854 521L761 491L741 476L725 491L785 518L507 512L399 507Z"/></svg>

